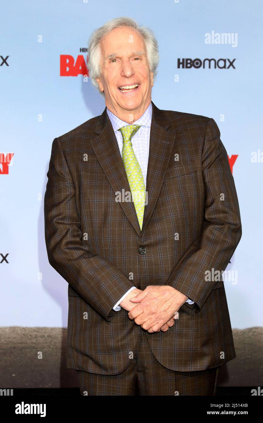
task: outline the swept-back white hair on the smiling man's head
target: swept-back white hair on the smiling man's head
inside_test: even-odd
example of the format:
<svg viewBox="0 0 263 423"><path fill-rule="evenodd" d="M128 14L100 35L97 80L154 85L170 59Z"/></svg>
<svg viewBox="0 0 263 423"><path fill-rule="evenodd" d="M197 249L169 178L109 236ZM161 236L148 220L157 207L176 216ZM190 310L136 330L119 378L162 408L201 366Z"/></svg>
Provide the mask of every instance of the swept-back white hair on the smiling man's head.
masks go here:
<svg viewBox="0 0 263 423"><path fill-rule="evenodd" d="M88 61L87 69L89 70L89 77L92 81L92 84L98 89L99 93L104 97L104 91L101 92L99 84L96 81L96 78L101 75L100 68L100 41L112 30L118 27L130 27L138 31L141 36L144 38L146 45L146 55L149 61L150 71L153 72L153 79L155 80L157 75L157 66L159 63L159 54L158 54L158 43L155 38L154 33L148 27L139 26L138 23L129 17L123 16L119 18L111 19L106 22L102 27L95 29L88 41Z"/></svg>

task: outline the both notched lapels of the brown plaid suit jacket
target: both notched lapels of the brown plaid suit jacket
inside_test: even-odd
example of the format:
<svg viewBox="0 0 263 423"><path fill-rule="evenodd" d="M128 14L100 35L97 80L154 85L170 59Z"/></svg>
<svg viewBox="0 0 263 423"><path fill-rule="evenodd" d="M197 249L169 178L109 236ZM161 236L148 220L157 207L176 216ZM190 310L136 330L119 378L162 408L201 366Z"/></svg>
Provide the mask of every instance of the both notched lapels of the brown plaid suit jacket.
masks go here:
<svg viewBox="0 0 263 423"><path fill-rule="evenodd" d="M171 157L172 147L174 145L175 135L167 131L170 123L163 113L152 102L152 123L150 129L149 159L146 177L146 192L148 193L148 204L144 207L144 220L142 231L139 226L134 203L119 202L127 219L134 230L141 236L144 228L151 217L157 202L163 179ZM108 117L106 107L99 116L95 125L94 132L98 137L90 139L92 148L103 168L111 187L116 192L130 192L130 186L119 152L119 146Z"/></svg>

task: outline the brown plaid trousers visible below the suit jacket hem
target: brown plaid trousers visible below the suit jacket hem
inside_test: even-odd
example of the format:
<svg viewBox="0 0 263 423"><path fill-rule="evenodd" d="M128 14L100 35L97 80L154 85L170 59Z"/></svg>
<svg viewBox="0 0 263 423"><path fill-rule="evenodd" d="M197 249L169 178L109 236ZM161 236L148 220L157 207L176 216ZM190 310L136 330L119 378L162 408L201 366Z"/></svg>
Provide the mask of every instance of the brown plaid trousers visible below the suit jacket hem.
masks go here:
<svg viewBox="0 0 263 423"><path fill-rule="evenodd" d="M214 396L219 367L174 371L161 365L149 347L144 329L130 365L122 373L105 375L77 370L82 396Z"/></svg>

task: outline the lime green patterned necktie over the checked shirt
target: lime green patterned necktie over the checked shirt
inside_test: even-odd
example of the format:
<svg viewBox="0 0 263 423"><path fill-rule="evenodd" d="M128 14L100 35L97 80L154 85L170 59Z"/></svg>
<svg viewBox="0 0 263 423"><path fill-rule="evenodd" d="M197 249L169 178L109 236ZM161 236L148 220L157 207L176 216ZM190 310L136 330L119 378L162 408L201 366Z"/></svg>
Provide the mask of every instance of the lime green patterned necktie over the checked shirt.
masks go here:
<svg viewBox="0 0 263 423"><path fill-rule="evenodd" d="M127 179L130 185L130 191L133 198L133 203L138 217L140 228L144 218L144 204L145 204L145 185L144 177L141 171L141 166L133 151L131 139L136 134L141 125L122 126L118 131L122 134L122 161L127 174Z"/></svg>

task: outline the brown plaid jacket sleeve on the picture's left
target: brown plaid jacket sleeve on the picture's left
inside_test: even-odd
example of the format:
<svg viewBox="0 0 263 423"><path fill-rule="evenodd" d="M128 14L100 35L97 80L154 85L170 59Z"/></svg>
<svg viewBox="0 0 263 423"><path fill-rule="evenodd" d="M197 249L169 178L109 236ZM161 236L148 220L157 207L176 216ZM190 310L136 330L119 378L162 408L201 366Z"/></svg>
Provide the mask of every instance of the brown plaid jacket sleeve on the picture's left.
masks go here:
<svg viewBox="0 0 263 423"><path fill-rule="evenodd" d="M92 255L80 227L75 188L62 151L55 138L47 173L44 198L45 239L49 263L104 319L110 321L114 304L133 286L109 261Z"/></svg>

